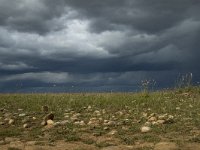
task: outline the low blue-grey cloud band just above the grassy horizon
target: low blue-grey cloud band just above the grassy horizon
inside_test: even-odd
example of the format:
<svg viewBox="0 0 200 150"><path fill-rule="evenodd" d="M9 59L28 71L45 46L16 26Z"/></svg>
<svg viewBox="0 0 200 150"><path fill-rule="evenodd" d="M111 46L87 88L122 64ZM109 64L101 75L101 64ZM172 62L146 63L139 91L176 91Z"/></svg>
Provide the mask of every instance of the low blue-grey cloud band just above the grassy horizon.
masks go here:
<svg viewBox="0 0 200 150"><path fill-rule="evenodd" d="M136 91L142 88L142 80L155 80L156 84L151 89L174 87L178 75L178 71L160 71L159 74L157 71L91 74L38 72L6 76L0 87L4 92L9 91L10 85L10 91L15 92ZM195 81L199 79L195 76Z"/></svg>

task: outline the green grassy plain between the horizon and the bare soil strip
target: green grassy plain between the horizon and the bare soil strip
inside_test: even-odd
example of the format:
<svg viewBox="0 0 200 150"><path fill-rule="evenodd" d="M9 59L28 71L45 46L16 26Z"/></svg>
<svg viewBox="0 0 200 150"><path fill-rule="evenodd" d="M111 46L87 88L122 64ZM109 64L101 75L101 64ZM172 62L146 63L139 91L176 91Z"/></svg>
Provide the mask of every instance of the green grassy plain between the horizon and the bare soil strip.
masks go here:
<svg viewBox="0 0 200 150"><path fill-rule="evenodd" d="M41 111L44 105L54 114L54 122L67 120L67 123L50 129L41 126L46 115ZM163 140L179 145L200 142L200 87L150 93L0 94L0 110L0 140L17 137L38 141L37 144L43 140L81 141L100 148ZM25 115L20 117L23 113ZM140 128L148 122L149 116L164 114L171 115L173 121L151 124L150 132L141 133ZM6 116L15 122L7 123ZM23 127L24 119L29 119L29 128ZM89 124L91 120L96 122ZM81 121L83 125L79 124ZM106 124L109 121L110 124ZM96 137L107 136L115 140L96 140Z"/></svg>

